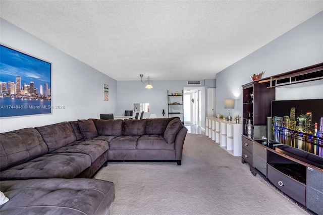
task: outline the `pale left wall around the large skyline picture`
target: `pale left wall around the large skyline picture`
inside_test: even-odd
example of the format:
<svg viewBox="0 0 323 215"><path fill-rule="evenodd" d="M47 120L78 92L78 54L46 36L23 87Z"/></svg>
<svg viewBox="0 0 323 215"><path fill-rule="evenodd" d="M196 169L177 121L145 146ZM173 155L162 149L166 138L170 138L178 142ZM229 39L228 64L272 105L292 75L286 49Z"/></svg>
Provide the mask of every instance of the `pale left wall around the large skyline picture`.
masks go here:
<svg viewBox="0 0 323 215"><path fill-rule="evenodd" d="M77 119L99 118L117 107L117 81L72 58L17 26L0 20L0 42L52 64L52 105L65 105L49 115L0 119L0 132L49 125ZM102 85L109 85L109 101L103 101Z"/></svg>

